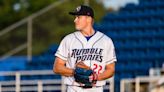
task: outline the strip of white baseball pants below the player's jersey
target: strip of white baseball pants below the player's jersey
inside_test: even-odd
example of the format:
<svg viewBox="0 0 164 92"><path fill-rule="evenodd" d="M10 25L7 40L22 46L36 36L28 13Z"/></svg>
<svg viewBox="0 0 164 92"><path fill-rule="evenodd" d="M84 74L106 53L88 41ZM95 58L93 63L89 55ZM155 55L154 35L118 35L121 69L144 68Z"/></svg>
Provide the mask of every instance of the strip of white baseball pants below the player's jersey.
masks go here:
<svg viewBox="0 0 164 92"><path fill-rule="evenodd" d="M103 87L82 88L77 86L67 86L66 92L103 92Z"/></svg>

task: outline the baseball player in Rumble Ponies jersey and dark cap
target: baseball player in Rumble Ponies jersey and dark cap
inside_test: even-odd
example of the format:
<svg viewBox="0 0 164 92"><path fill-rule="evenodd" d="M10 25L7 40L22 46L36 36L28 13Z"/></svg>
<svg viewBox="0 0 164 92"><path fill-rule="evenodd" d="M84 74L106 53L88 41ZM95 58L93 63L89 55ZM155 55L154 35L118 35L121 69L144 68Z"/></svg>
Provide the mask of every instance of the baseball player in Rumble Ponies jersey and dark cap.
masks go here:
<svg viewBox="0 0 164 92"><path fill-rule="evenodd" d="M64 76L67 92L103 92L106 79L115 72L116 55L111 38L94 30L94 12L81 5L75 11L77 31L61 41L53 71Z"/></svg>

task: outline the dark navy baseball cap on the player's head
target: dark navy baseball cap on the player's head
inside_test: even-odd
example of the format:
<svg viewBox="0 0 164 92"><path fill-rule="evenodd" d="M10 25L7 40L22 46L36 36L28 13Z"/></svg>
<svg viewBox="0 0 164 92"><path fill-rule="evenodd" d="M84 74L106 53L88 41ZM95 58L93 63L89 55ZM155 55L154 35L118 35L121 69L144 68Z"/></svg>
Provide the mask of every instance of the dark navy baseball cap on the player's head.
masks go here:
<svg viewBox="0 0 164 92"><path fill-rule="evenodd" d="M94 12L93 9L89 6L86 5L81 5L76 8L75 11L69 12L71 15L86 15L86 16L91 16L94 18Z"/></svg>

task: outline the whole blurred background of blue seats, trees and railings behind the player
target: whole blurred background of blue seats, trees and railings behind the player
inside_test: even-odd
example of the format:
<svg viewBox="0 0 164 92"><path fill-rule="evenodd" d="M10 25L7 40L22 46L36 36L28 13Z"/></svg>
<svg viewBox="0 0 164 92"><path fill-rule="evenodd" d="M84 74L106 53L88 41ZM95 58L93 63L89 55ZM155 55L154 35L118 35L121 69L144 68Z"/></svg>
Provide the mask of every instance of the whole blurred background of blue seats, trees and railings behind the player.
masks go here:
<svg viewBox="0 0 164 92"><path fill-rule="evenodd" d="M164 92L164 0L0 0L0 92L65 92L54 53L81 4L115 45L104 92Z"/></svg>

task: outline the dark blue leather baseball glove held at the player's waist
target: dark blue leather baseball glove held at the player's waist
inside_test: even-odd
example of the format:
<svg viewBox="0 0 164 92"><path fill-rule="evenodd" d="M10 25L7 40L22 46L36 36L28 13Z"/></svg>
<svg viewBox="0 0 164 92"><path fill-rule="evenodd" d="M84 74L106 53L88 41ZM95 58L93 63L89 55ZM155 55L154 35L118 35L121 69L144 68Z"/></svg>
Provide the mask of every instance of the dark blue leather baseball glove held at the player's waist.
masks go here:
<svg viewBox="0 0 164 92"><path fill-rule="evenodd" d="M97 81L97 74L82 61L76 64L74 70L75 81L84 86L93 86Z"/></svg>

